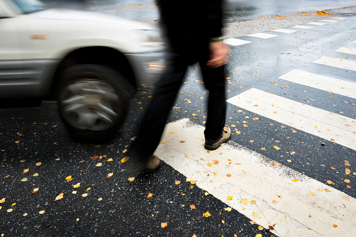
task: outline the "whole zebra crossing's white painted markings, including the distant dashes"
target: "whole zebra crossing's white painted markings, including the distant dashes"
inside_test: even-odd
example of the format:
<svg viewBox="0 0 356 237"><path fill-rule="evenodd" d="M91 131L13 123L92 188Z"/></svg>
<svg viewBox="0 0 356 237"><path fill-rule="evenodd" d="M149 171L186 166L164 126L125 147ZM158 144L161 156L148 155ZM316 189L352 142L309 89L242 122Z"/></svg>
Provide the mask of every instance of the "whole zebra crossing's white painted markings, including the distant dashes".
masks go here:
<svg viewBox="0 0 356 237"><path fill-rule="evenodd" d="M310 22L309 25L321 26L326 23ZM303 25L292 27L313 28ZM297 31L276 29L272 32L289 34ZM256 33L246 36L267 39L277 35ZM251 41L226 39L225 43L242 45ZM355 50L341 47L335 52L353 55ZM322 56L312 62L312 65L318 64L356 71L356 62L352 60ZM276 78L282 79L287 85L294 83L329 92L330 96L337 94L356 98L354 82L312 71L313 66L308 71L293 69L284 75L276 75ZM356 118L344 116L342 111L317 108L308 105L309 101L300 103L293 98L288 99L258 88L250 88L232 96L227 102L231 107L236 106L245 112L294 128L293 133L312 134L321 140L356 150ZM356 104L346 102L352 109L356 108ZM214 195L258 225L268 228L271 223L277 223L271 231L277 236L356 236L356 199L308 177L304 172L281 165L273 157L233 141L218 150L207 151L202 146L204 127L189 119L167 124L162 141L166 142L158 146L155 155L184 174L188 181L196 181L199 188L206 190L206 195Z"/></svg>

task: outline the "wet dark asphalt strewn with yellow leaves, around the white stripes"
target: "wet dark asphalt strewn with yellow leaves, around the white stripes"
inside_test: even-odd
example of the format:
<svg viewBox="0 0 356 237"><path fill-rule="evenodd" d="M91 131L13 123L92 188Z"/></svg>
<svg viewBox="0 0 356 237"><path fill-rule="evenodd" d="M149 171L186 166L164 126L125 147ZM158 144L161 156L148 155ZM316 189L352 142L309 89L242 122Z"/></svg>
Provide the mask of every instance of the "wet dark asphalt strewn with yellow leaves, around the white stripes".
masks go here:
<svg viewBox="0 0 356 237"><path fill-rule="evenodd" d="M309 101L316 108L343 112L344 116L355 119L356 109L352 106L355 99L335 93L331 98L328 92L278 79L292 69L299 69L356 82L355 71L311 63L321 56L356 61L356 55L334 52L356 40L354 18L297 30L291 34L265 32L278 35L269 39L241 36L240 39L252 42L229 46L230 62L225 69L229 77L226 91L230 91L226 92L227 98L258 88L300 103ZM204 125L209 92L202 83L199 68L198 63L188 67L184 79L187 83L182 84L180 92L183 93L178 93L174 105L179 109L172 109L167 122L189 118ZM283 87L284 83L288 83L289 88ZM2 101L0 200L5 198L5 201L0 203L1 234L274 236L266 229L258 230L257 224L251 224L251 220L237 210L225 210L227 204L210 194L205 195L205 190L195 184L185 182L185 176L165 163L157 172L148 174L130 160L121 162L150 103L148 96L154 92L150 86L138 89L130 102L125 124L104 144L85 144L71 138L61 122L56 102ZM356 198L355 176L352 175L356 161L354 150L298 129L292 133L291 127L261 116L258 123L244 128L241 121L246 120L247 115L258 115L248 111L236 113L239 109L228 104L227 124L237 124L236 128L241 131L241 134L232 134L232 141ZM197 119L192 113L197 114L194 115ZM280 143L276 144L275 140ZM283 145L283 151L295 151L293 162L287 162L287 156L281 157L273 145ZM112 161L108 161L110 158ZM351 164L350 176L345 174L344 160ZM98 163L102 165L96 166ZM25 172L26 169L29 170ZM36 173L38 176L33 176ZM113 173L111 177L109 173ZM72 176L69 182L66 181L68 176ZM135 179L129 181L132 177ZM21 181L23 178L27 181ZM350 180L351 188L346 187L345 178ZM332 180L334 185L326 183L327 180ZM176 181L180 184L175 184ZM80 187L74 188L77 183ZM61 193L63 198L55 200ZM148 197L150 193L152 196ZM211 216L204 216L207 211ZM161 224L166 222L167 227L162 228Z"/></svg>

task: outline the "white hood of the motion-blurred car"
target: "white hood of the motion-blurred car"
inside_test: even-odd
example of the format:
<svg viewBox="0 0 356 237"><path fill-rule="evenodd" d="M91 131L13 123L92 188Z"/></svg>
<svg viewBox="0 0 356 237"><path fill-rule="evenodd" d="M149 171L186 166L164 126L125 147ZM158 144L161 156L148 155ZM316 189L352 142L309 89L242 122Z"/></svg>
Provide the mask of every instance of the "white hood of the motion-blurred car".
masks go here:
<svg viewBox="0 0 356 237"><path fill-rule="evenodd" d="M125 18L120 18L117 16L106 15L97 12L88 12L88 11L46 9L43 11L27 14L27 16L32 18L37 18L37 19L103 22L103 23L109 23L113 25L120 25L120 28L127 28L127 29L157 29L155 27L152 27L144 23L130 22Z"/></svg>

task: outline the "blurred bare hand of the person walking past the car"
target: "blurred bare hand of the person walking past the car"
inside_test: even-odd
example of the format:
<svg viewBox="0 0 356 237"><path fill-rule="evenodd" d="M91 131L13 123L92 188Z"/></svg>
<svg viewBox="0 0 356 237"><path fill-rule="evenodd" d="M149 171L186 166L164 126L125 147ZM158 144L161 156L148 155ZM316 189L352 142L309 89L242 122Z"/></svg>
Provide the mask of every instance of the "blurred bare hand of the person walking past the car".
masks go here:
<svg viewBox="0 0 356 237"><path fill-rule="evenodd" d="M218 68L229 61L227 48L223 41L209 43L209 59L206 65L210 68Z"/></svg>

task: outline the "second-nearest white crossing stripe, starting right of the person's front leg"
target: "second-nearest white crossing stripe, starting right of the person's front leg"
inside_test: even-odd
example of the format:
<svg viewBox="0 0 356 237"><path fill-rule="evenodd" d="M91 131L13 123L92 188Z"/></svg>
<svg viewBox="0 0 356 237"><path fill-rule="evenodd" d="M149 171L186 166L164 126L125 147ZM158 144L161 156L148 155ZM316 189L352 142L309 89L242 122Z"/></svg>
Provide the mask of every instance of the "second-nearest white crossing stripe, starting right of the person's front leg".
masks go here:
<svg viewBox="0 0 356 237"><path fill-rule="evenodd" d="M356 150L356 123L336 112L331 113L256 88L227 99L227 102Z"/></svg>

